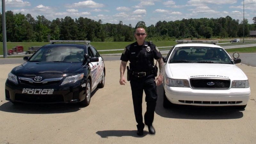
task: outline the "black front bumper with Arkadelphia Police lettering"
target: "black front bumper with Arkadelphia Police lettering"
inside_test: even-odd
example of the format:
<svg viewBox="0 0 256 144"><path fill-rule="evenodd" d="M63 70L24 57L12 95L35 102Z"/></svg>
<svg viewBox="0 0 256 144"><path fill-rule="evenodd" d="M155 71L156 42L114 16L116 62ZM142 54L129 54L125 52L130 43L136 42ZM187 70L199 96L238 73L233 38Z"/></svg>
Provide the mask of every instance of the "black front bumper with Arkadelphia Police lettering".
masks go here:
<svg viewBox="0 0 256 144"><path fill-rule="evenodd" d="M85 99L85 87L80 82L64 86L14 84L7 80L5 83L5 100L24 103L73 103Z"/></svg>

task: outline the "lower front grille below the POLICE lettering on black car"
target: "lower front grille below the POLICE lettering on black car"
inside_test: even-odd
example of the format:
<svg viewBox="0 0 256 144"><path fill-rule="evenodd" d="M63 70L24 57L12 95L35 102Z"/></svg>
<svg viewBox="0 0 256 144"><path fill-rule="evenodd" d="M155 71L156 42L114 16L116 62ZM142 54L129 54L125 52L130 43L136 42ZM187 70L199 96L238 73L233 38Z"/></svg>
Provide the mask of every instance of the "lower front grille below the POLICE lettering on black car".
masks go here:
<svg viewBox="0 0 256 144"><path fill-rule="evenodd" d="M28 95L28 94L16 94L15 100L23 102L35 102L35 103L54 103L54 102L64 102L62 95Z"/></svg>

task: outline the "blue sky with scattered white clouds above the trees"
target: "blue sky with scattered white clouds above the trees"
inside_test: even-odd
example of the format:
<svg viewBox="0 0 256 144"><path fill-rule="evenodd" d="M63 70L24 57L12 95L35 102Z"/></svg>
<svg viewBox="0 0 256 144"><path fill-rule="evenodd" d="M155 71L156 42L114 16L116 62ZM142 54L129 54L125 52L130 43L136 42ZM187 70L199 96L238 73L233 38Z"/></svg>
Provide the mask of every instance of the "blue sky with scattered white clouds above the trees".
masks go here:
<svg viewBox="0 0 256 144"><path fill-rule="evenodd" d="M132 27L138 21L144 21L148 27L164 20L226 16L240 22L244 17L252 24L256 17L256 0L5 0L5 10L30 13L35 19L38 15L51 21L66 16L86 17L103 23L123 21Z"/></svg>

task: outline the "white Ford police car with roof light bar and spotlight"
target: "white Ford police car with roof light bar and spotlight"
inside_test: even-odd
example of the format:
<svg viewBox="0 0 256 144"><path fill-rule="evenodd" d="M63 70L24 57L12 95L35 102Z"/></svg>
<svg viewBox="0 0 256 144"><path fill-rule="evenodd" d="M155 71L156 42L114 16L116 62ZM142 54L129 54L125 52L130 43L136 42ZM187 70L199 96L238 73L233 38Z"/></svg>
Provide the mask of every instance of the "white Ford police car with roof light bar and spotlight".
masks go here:
<svg viewBox="0 0 256 144"><path fill-rule="evenodd" d="M244 109L251 90L244 72L218 41L177 40L164 65L163 106L236 106ZM212 43L212 44L206 44Z"/></svg>

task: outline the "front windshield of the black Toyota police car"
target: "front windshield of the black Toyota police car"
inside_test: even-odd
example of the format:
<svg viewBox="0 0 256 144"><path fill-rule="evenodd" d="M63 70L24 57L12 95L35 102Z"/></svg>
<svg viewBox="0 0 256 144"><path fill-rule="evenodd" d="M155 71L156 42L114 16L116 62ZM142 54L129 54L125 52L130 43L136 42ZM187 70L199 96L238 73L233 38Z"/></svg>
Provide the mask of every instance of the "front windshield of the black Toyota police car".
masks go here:
<svg viewBox="0 0 256 144"><path fill-rule="evenodd" d="M82 62L84 60L83 45L45 45L36 51L28 61L46 62Z"/></svg>

